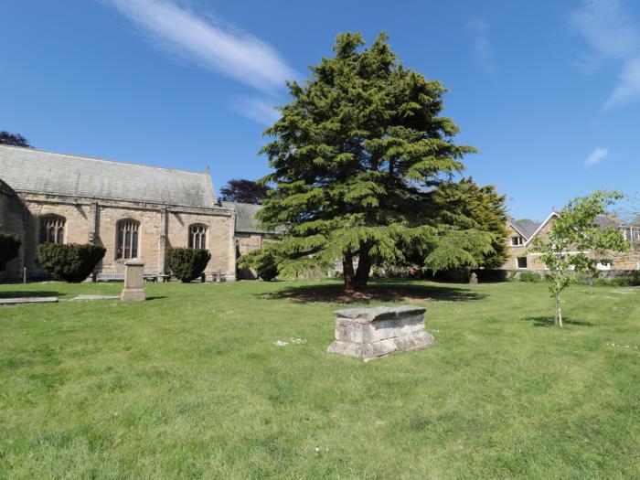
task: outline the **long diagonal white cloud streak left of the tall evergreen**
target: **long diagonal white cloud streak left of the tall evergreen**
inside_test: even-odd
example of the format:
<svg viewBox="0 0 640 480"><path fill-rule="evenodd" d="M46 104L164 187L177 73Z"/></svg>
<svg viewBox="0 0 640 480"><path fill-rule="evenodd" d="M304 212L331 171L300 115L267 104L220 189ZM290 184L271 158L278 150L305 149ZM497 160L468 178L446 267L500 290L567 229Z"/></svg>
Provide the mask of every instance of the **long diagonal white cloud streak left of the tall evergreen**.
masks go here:
<svg viewBox="0 0 640 480"><path fill-rule="evenodd" d="M176 54L260 91L275 91L295 72L271 46L177 5L175 0L103 0Z"/></svg>

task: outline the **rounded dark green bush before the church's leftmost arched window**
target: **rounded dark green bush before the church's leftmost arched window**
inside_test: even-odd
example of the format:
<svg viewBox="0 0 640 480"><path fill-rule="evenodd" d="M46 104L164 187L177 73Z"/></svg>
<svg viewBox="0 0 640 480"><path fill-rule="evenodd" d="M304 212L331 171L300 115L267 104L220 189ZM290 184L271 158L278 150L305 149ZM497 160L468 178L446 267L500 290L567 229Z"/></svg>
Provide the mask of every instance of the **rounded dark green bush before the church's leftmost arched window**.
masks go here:
<svg viewBox="0 0 640 480"><path fill-rule="evenodd" d="M37 246L37 261L54 277L80 283L91 275L105 251L98 245L43 243Z"/></svg>

